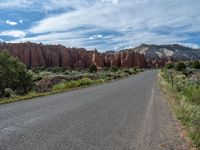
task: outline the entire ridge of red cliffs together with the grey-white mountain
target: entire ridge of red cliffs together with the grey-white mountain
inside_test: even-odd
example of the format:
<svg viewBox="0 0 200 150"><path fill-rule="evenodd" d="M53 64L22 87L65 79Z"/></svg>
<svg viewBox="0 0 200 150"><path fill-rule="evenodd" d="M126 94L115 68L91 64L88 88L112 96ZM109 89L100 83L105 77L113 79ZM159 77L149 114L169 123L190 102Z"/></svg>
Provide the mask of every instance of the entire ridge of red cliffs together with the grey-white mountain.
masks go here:
<svg viewBox="0 0 200 150"><path fill-rule="evenodd" d="M66 48L62 45L43 45L31 42L0 43L0 52L7 49L28 67L88 68L95 64L103 67L161 67L168 62L179 60L200 60L200 49L178 44L147 45L120 51L100 53L84 48Z"/></svg>

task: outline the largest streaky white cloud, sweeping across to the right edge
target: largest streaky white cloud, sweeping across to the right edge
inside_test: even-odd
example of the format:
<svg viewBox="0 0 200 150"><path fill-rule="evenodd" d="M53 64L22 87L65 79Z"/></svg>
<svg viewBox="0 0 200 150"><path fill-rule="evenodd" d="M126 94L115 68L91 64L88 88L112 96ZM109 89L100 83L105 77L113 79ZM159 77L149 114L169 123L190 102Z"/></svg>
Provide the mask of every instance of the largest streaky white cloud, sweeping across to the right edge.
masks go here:
<svg viewBox="0 0 200 150"><path fill-rule="evenodd" d="M138 0L133 0L122 1L116 7L110 7L108 4L97 2L91 7L82 7L70 13L45 18L37 22L30 31L33 33L67 31L70 28L85 25L113 30L121 30L126 26L130 26L134 30L188 26L188 29L193 28L198 31L200 16L197 10L200 8L200 2L199 5L195 3L179 4L178 8L176 3L172 0L166 0L166 2L153 0L150 5L149 1L140 4ZM193 18L196 18L196 23L192 25Z"/></svg>

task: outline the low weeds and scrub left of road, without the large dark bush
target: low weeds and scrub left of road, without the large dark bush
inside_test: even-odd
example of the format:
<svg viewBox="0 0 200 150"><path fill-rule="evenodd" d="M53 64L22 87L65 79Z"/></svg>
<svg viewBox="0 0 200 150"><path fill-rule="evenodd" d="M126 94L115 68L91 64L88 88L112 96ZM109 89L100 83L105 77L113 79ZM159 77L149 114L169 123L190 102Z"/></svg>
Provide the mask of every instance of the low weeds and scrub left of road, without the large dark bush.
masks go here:
<svg viewBox="0 0 200 150"><path fill-rule="evenodd" d="M72 70L63 68L36 68L31 71L36 87L25 95L14 95L14 97L10 98L0 98L0 104L11 103L40 96L47 96L77 88L111 82L113 80L135 75L141 71L143 70L138 68L105 68L97 71L96 73L90 73L88 72L88 70L78 69ZM62 77L62 80L60 80L56 84L52 84L52 81L50 81L50 79L54 79L56 77ZM45 81L44 83L42 82L44 85L40 86L45 87L46 91L41 92L38 91L37 84L43 80ZM49 86L49 84L51 86ZM48 89L46 89L46 86L48 87Z"/></svg>

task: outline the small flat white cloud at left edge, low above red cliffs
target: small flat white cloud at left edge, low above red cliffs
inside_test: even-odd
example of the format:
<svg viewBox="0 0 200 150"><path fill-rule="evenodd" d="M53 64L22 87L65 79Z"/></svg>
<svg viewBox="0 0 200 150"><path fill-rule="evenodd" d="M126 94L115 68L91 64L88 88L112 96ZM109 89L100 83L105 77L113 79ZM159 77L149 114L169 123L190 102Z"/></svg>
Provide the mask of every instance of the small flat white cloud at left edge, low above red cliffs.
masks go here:
<svg viewBox="0 0 200 150"><path fill-rule="evenodd" d="M8 31L0 32L0 36L22 38L26 36L26 33L20 30L8 30Z"/></svg>

